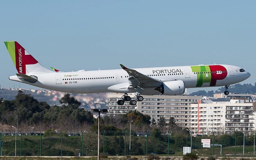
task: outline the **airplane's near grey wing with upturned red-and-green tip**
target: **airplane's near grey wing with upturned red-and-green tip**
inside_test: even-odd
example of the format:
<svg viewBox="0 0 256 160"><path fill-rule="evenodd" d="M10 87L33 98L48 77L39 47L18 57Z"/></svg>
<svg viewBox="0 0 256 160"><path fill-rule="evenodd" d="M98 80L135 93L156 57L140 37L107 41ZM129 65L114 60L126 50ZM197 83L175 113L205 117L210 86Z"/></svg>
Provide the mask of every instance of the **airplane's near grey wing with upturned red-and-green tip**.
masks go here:
<svg viewBox="0 0 256 160"><path fill-rule="evenodd" d="M129 74L129 76L131 76L129 78L129 88L156 88L162 85L162 82L158 79L146 76L145 74L142 74L134 69L129 69L122 64L120 64L120 66Z"/></svg>

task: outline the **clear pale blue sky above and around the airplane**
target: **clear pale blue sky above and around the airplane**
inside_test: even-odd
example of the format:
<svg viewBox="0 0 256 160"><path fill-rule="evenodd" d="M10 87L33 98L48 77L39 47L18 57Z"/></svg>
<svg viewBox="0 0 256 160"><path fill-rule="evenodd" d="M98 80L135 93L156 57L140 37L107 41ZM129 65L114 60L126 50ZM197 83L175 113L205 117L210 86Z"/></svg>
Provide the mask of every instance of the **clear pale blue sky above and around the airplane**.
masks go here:
<svg viewBox="0 0 256 160"><path fill-rule="evenodd" d="M8 40L62 71L232 64L254 84L255 7L234 0L1 1L0 84L19 86L8 80L17 73Z"/></svg>

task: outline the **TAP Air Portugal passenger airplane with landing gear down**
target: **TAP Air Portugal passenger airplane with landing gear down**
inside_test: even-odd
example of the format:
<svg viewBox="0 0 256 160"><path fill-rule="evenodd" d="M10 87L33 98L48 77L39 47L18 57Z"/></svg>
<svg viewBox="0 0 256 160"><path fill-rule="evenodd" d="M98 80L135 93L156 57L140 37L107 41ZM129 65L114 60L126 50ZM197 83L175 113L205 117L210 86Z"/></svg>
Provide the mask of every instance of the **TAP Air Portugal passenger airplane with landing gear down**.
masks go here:
<svg viewBox="0 0 256 160"><path fill-rule="evenodd" d="M242 82L251 74L234 65L197 65L76 72L56 72L46 69L18 42L6 41L5 46L18 71L9 79L40 88L69 93L123 93L117 101L136 105L142 95L182 95L185 88L228 86ZM134 99L128 93L136 93Z"/></svg>

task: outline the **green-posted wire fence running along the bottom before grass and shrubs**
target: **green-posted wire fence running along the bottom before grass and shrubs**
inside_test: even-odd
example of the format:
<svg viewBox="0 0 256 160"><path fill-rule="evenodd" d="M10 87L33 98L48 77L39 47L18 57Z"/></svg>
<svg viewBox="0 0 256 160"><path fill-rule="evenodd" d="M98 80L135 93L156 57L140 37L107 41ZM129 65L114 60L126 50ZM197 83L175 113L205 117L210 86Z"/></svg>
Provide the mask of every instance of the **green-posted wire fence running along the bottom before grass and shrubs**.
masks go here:
<svg viewBox="0 0 256 160"><path fill-rule="evenodd" d="M97 132L45 131L33 134L0 134L1 156L97 156ZM192 145L199 156L254 156L255 134L234 132L191 136L189 131L103 131L102 155L182 156L183 147ZM211 148L203 148L202 139L210 139Z"/></svg>

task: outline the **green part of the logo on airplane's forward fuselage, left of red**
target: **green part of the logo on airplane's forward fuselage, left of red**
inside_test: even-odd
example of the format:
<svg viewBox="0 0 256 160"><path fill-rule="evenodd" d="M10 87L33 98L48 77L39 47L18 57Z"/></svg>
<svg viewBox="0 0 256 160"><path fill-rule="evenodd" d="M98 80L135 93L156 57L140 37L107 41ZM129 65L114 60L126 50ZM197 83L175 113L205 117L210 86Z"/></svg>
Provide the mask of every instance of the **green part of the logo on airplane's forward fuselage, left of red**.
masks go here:
<svg viewBox="0 0 256 160"><path fill-rule="evenodd" d="M191 66L192 72L197 72L196 87L201 87L203 83L211 83L211 70L209 66Z"/></svg>

